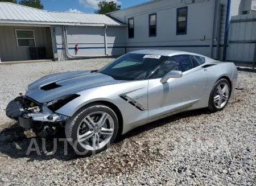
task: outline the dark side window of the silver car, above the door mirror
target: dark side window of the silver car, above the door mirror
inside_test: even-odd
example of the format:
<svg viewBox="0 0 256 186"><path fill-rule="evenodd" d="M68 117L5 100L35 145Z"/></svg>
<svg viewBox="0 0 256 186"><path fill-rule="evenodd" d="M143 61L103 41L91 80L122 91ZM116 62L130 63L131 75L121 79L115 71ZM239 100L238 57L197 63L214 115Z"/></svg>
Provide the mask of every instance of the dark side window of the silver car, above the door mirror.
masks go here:
<svg viewBox="0 0 256 186"><path fill-rule="evenodd" d="M194 65L189 55L171 56L168 60L163 62L159 69L156 69L156 75L151 78L162 78L170 71L185 72L192 68L194 68Z"/></svg>

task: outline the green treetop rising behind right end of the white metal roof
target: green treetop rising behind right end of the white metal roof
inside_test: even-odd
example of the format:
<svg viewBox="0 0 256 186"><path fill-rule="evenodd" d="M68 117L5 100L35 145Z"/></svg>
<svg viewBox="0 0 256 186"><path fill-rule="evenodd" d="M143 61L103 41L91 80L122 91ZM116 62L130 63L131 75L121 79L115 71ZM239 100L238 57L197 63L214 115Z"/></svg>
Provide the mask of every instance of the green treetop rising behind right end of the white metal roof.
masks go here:
<svg viewBox="0 0 256 186"><path fill-rule="evenodd" d="M117 5L114 1L100 1L98 3L98 10L95 10L94 13L96 14L106 14L111 13L112 11L120 10L121 5Z"/></svg>

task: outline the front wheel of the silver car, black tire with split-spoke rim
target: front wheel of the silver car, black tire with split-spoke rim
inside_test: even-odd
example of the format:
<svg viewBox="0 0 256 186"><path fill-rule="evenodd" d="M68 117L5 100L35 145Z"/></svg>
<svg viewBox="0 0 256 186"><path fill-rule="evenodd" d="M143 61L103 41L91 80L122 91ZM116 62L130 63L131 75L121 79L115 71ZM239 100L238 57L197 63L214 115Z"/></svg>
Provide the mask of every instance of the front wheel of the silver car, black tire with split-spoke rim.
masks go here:
<svg viewBox="0 0 256 186"><path fill-rule="evenodd" d="M104 115L106 115L106 119L103 117ZM91 120L88 120L88 117ZM103 119L103 122L100 122L101 118L105 120ZM109 131L106 132L107 130ZM106 150L110 147L110 143L114 141L117 133L117 115L112 109L101 103L84 106L69 118L65 125L66 138L79 155L94 155ZM86 135L86 137L80 138L82 135ZM86 139L87 137L89 138ZM80 142L82 139L86 140Z"/></svg>

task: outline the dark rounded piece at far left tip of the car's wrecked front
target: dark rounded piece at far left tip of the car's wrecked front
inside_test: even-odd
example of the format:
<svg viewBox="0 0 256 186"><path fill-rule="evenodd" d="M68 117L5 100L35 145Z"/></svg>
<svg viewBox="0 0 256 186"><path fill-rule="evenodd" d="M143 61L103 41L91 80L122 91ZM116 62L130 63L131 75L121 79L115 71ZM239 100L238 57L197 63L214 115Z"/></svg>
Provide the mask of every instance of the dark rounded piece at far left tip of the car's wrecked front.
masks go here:
<svg viewBox="0 0 256 186"><path fill-rule="evenodd" d="M22 108L21 104L17 104L18 102L16 102L16 100L10 101L5 110L6 116L16 121L18 121L19 116L23 114L23 112L19 110L19 108Z"/></svg>

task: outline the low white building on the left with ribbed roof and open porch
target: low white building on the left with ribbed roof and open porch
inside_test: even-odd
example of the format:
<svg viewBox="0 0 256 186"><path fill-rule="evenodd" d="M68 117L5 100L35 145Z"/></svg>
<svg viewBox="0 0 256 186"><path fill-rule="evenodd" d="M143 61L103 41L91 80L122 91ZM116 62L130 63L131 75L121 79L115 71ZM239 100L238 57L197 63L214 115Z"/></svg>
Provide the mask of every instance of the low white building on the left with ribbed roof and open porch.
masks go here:
<svg viewBox="0 0 256 186"><path fill-rule="evenodd" d="M0 59L122 55L125 48L119 46L125 46L125 41L119 33L125 28L106 15L50 12L0 2Z"/></svg>

